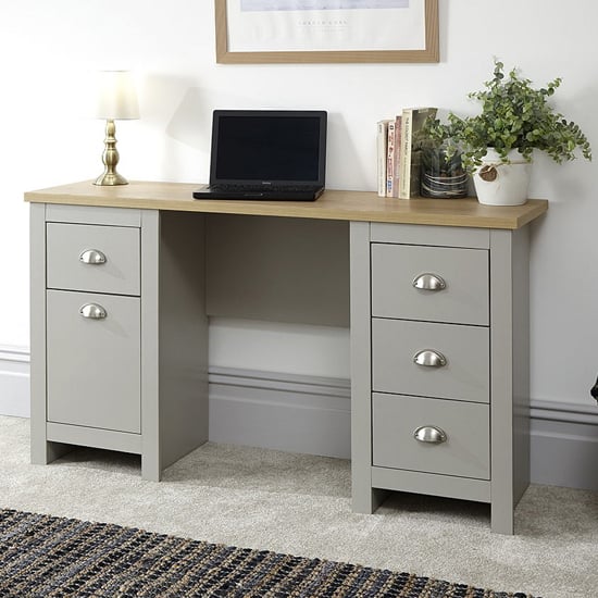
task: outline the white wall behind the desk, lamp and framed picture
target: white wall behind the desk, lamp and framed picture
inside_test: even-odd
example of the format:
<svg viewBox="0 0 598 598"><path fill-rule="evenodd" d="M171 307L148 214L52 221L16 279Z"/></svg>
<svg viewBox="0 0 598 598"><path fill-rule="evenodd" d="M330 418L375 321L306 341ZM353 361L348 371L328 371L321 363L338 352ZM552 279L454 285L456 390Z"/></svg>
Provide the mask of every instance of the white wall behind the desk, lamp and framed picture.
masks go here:
<svg viewBox="0 0 598 598"><path fill-rule="evenodd" d="M214 108L323 108L329 112L328 187L373 190L375 122L406 105L472 112L466 92L490 77L495 55L538 84L562 76L555 103L582 125L598 151L593 58L598 5L591 0L440 0L441 62L422 65L217 65L213 21L208 0L2 2L0 347L28 346L23 191L92 178L102 170L103 124L85 117L82 100L97 70L138 74L141 120L117 127L120 171L132 179L205 180ZM598 371L597 174L596 164L581 160L556 167L540 157L535 166L531 194L550 200L548 215L533 227L537 400L590 401L588 387ZM223 361L236 342L235 323L219 326L211 335L212 357L228 365ZM263 363L251 366L266 370L273 354L288 356L288 362L277 361L281 370L304 365L301 353L298 359L292 349L269 346L274 337L284 342L284 334L247 323L239 329L238 339L258 339L263 349ZM298 334L306 336L279 331L291 333L289 347ZM348 375L346 333L307 332L312 346L304 354L325 356L331 342L339 342L345 357L325 367L331 376ZM238 354L229 365L240 365ZM317 371L301 373L326 375L322 362L314 363Z"/></svg>

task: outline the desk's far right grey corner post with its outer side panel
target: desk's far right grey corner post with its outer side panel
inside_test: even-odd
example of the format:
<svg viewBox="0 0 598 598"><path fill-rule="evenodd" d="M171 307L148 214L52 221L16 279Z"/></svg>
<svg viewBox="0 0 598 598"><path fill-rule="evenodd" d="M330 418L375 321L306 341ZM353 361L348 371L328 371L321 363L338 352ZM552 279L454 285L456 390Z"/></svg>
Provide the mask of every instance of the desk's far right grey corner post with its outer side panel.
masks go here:
<svg viewBox="0 0 598 598"><path fill-rule="evenodd" d="M530 231L491 231L491 530L513 534L530 484Z"/></svg>

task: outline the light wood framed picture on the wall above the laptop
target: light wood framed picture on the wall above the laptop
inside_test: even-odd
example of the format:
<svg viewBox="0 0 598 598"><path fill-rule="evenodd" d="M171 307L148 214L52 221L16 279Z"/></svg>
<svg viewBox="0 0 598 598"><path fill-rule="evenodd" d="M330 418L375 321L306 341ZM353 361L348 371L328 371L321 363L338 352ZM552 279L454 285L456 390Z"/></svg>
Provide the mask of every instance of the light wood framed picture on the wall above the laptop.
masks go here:
<svg viewBox="0 0 598 598"><path fill-rule="evenodd" d="M438 0L214 0L216 62L438 62Z"/></svg>

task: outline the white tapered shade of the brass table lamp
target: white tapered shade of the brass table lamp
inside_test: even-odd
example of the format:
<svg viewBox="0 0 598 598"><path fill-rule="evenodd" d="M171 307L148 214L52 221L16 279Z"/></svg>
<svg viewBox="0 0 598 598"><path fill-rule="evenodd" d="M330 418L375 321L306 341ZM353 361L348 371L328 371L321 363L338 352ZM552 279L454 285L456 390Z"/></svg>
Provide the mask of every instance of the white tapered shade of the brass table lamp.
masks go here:
<svg viewBox="0 0 598 598"><path fill-rule="evenodd" d="M139 119L137 91L129 71L98 73L96 117L107 121Z"/></svg>

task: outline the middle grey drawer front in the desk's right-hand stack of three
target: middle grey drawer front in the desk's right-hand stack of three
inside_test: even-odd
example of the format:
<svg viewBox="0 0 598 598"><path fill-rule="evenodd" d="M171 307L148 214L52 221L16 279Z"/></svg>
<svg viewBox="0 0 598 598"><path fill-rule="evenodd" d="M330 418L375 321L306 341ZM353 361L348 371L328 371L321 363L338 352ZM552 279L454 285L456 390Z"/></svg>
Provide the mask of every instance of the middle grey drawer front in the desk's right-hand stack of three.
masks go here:
<svg viewBox="0 0 598 598"><path fill-rule="evenodd" d="M420 351L446 365L414 363ZM372 320L373 389L474 402L489 401L488 328L406 320Z"/></svg>

